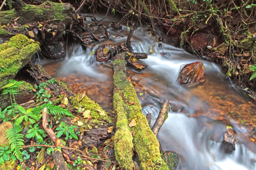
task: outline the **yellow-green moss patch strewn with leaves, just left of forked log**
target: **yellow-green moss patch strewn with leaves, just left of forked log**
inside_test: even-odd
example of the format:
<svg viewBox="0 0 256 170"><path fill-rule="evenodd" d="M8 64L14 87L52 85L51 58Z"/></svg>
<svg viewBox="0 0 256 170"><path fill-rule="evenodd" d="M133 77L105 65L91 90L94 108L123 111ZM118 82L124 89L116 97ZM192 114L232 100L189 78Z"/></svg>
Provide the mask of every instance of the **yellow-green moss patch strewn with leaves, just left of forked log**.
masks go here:
<svg viewBox="0 0 256 170"><path fill-rule="evenodd" d="M83 97L83 99L78 102L77 97L80 96L80 95L81 94L78 93L73 97L72 103L73 103L74 107L80 107L81 106L82 108L84 108L84 110L91 110L90 115L93 119L91 119L90 121L94 121L94 122L97 123L96 120L101 119L101 120L107 121L108 123L111 123L111 119L108 116L108 113L105 110L103 110L98 103L92 101L88 96L85 95ZM100 115L100 113L101 113L101 115Z"/></svg>

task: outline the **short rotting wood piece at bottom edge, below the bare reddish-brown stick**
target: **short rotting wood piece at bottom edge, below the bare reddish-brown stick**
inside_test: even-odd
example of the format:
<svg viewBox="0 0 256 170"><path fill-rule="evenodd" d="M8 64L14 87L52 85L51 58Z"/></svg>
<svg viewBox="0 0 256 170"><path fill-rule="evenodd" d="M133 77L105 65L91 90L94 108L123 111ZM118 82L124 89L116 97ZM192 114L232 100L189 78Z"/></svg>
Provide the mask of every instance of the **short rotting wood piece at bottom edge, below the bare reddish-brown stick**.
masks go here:
<svg viewBox="0 0 256 170"><path fill-rule="evenodd" d="M69 170L67 166L67 162L64 161L64 158L60 149L57 149L57 148L54 149L53 160L55 162L56 170Z"/></svg>

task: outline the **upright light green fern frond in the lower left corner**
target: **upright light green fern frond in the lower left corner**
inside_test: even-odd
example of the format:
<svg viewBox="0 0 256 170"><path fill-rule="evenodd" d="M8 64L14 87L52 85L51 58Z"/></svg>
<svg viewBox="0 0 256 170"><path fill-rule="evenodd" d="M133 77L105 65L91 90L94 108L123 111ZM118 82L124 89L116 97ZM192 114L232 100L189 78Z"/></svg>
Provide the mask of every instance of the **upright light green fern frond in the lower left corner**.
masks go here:
<svg viewBox="0 0 256 170"><path fill-rule="evenodd" d="M23 129L20 125L13 125L12 128L6 130L6 136L8 137L9 145L13 154L20 160L22 159L22 146L24 145L23 135L21 132Z"/></svg>

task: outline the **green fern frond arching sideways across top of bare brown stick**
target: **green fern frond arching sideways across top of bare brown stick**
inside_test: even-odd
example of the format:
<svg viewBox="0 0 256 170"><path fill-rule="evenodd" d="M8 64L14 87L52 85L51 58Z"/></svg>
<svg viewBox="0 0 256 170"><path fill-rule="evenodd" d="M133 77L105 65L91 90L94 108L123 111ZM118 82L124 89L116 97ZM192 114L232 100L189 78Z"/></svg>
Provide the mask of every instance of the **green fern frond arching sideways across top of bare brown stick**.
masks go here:
<svg viewBox="0 0 256 170"><path fill-rule="evenodd" d="M41 106L37 106L37 108L34 108L34 109L37 110L37 111L39 109L40 112L41 112L41 110L43 110L45 107L47 108L47 111L48 111L49 114L52 114L52 115L55 115L55 116L56 115L65 115L65 116L74 117L69 110L63 109L60 106L55 106L55 105L49 104L49 103L45 103Z"/></svg>

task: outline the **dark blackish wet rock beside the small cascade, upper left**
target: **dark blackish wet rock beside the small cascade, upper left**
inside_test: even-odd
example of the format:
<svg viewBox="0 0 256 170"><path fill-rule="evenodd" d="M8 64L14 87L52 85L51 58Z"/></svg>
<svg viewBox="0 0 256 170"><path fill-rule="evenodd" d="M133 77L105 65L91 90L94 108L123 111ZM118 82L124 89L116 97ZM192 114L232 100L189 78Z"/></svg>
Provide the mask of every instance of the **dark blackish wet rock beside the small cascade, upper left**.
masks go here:
<svg viewBox="0 0 256 170"><path fill-rule="evenodd" d="M55 41L51 45L48 45L48 51L50 52L52 59L63 59L66 56L64 42Z"/></svg>

